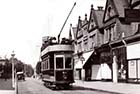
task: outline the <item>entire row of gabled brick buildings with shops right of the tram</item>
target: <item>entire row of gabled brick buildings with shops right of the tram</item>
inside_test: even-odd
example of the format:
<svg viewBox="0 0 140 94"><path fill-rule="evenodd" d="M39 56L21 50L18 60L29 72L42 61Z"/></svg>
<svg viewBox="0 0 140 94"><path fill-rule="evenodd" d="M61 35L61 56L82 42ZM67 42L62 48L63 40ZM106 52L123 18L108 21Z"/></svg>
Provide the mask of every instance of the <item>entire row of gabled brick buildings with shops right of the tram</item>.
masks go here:
<svg viewBox="0 0 140 94"><path fill-rule="evenodd" d="M107 0L105 10L91 6L74 32L75 77L83 80L139 82L140 1Z"/></svg>

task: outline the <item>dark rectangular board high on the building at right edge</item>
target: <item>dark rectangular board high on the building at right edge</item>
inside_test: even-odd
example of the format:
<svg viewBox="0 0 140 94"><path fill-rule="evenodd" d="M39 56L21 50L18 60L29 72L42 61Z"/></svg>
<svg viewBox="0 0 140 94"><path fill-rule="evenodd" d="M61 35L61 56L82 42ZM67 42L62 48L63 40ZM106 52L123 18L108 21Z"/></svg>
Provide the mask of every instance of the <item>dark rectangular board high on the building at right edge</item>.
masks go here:
<svg viewBox="0 0 140 94"><path fill-rule="evenodd" d="M140 9L125 9L126 22L140 22Z"/></svg>

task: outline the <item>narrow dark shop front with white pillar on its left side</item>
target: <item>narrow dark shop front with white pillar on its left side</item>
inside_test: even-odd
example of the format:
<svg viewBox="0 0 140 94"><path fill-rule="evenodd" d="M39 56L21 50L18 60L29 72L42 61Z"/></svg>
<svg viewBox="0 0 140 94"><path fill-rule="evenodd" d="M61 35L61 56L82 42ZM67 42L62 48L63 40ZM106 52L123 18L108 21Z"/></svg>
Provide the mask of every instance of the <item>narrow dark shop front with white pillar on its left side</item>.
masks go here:
<svg viewBox="0 0 140 94"><path fill-rule="evenodd" d="M113 81L125 82L127 79L126 47L114 48L113 53ZM116 60L114 58L116 57ZM116 66L114 64L116 63ZM116 73L115 73L116 71ZM116 79L116 81L115 81Z"/></svg>

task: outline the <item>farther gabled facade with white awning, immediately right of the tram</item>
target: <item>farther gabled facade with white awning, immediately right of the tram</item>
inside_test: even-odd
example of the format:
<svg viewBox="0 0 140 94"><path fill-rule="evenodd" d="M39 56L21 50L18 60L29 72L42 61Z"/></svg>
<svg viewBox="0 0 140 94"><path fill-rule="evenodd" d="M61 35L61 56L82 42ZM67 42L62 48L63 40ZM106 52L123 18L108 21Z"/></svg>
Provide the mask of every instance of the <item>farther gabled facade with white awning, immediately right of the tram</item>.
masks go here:
<svg viewBox="0 0 140 94"><path fill-rule="evenodd" d="M75 36L75 76L76 79L82 80L100 80L101 70L99 55L95 49L103 43L102 18L103 7L98 7L97 10L91 5L89 20L87 15L82 21L79 17L78 25L73 28Z"/></svg>

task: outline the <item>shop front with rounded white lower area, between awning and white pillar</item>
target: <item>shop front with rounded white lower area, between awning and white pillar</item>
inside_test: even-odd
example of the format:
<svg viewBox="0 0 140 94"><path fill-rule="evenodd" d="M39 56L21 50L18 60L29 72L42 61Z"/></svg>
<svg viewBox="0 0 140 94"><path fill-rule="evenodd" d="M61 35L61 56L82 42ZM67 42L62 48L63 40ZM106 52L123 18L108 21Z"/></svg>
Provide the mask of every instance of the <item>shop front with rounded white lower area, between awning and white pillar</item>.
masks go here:
<svg viewBox="0 0 140 94"><path fill-rule="evenodd" d="M99 62L100 62L100 75L101 80L111 81L112 80L112 55L111 48L108 44L102 45L98 48Z"/></svg>

